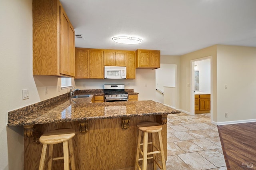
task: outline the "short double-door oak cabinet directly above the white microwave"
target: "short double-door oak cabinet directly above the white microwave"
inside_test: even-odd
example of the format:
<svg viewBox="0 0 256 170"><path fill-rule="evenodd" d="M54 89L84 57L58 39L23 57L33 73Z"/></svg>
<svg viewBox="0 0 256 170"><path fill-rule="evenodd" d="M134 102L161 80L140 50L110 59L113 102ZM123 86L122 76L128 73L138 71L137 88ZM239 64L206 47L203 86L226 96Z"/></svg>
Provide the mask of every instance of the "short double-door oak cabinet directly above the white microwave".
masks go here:
<svg viewBox="0 0 256 170"><path fill-rule="evenodd" d="M126 51L104 51L104 65L106 66L126 66Z"/></svg>

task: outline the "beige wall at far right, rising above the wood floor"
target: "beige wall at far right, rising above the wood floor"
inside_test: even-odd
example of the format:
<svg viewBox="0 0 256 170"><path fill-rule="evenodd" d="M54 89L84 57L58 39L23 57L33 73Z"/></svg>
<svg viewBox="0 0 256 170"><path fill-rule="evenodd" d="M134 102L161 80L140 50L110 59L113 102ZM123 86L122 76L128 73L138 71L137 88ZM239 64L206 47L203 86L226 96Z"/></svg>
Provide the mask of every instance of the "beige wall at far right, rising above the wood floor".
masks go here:
<svg viewBox="0 0 256 170"><path fill-rule="evenodd" d="M217 65L218 123L256 121L256 47L218 45Z"/></svg>

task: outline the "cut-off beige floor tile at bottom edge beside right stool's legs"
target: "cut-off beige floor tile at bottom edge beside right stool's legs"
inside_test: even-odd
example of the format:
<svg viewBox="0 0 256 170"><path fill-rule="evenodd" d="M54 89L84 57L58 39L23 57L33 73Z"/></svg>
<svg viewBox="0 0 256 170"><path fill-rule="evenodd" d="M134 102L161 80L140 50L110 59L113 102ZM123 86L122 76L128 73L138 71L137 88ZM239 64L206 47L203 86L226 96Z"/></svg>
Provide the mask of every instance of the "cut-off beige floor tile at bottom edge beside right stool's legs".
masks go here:
<svg viewBox="0 0 256 170"><path fill-rule="evenodd" d="M167 156L166 161L167 170L191 170L191 168L183 162L177 155Z"/></svg>

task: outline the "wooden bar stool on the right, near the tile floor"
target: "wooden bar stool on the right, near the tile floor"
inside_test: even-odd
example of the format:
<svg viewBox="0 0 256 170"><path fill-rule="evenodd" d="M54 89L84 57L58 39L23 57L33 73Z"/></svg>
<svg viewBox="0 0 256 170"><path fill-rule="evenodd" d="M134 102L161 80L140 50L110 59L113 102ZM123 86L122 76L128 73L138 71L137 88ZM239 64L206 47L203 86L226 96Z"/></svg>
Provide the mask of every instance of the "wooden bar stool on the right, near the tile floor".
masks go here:
<svg viewBox="0 0 256 170"><path fill-rule="evenodd" d="M161 170L166 170L166 164L165 164L165 158L164 158L164 147L163 147L163 141L161 136L161 130L163 128L162 125L156 122L142 122L142 123L138 123L137 127L139 129L139 135L138 135L138 145L137 145L137 153L136 153L136 161L135 161L135 170L137 168L141 170L138 163L140 160L142 160L142 170L146 170L148 159L153 159L154 170L156 170L156 165ZM144 132L143 143L140 143L142 138L142 132ZM153 140L152 142L148 142L148 133L158 133L160 150L158 147L154 145ZM148 144L152 144L152 148L153 148L152 152L148 152ZM143 150L141 150L140 146L143 146ZM156 151L154 151L154 148L156 149ZM158 154L158 153L161 154L162 166L156 160L155 154ZM142 154L142 158L139 158L140 154ZM148 155L152 155L152 154L153 156L148 157Z"/></svg>

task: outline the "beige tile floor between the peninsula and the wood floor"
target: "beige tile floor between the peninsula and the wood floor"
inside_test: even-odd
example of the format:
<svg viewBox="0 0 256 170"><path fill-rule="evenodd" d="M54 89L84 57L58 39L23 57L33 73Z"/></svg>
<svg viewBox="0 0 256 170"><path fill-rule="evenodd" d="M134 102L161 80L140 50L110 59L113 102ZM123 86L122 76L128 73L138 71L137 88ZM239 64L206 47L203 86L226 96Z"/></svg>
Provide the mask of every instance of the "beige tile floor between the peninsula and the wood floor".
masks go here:
<svg viewBox="0 0 256 170"><path fill-rule="evenodd" d="M226 170L218 128L210 113L168 115L168 170Z"/></svg>

